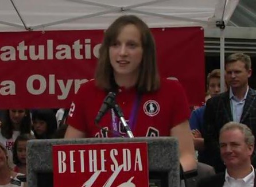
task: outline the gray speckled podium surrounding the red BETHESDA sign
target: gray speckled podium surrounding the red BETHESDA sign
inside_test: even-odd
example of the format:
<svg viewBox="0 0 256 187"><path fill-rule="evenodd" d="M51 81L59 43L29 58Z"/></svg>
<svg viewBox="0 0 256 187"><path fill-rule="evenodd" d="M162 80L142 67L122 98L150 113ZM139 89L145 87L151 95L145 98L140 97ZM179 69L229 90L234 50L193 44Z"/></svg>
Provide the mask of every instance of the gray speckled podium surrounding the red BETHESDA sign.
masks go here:
<svg viewBox="0 0 256 187"><path fill-rule="evenodd" d="M47 139L32 140L27 146L28 187L40 187L44 174L52 176L52 146L93 143L148 143L149 173L152 181L158 181L156 176L166 176L165 187L180 186L179 148L176 138L83 138L83 139ZM49 178L48 178L49 180ZM162 185L163 186L163 185ZM162 187L161 186L161 187ZM51 186L45 186L51 187Z"/></svg>

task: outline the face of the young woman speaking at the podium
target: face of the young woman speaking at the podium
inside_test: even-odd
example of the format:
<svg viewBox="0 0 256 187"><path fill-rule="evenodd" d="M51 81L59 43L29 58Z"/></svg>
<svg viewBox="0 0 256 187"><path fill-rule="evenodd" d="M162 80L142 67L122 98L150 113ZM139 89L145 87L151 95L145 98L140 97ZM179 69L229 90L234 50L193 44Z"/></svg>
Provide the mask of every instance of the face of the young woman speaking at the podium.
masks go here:
<svg viewBox="0 0 256 187"><path fill-rule="evenodd" d="M143 49L141 33L135 25L129 24L121 29L109 48L109 56L114 75L138 75Z"/></svg>

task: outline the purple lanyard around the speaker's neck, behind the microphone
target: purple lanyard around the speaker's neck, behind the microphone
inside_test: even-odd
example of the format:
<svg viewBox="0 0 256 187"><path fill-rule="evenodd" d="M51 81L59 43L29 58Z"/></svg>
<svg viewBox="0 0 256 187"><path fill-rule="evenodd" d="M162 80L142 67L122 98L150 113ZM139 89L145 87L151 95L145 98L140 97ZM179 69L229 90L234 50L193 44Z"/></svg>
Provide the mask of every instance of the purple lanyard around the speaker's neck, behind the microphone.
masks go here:
<svg viewBox="0 0 256 187"><path fill-rule="evenodd" d="M129 117L129 122L128 125L130 127L131 130L134 129L135 126L135 122L137 120L137 115L138 115L138 108L139 108L139 103L141 101L141 95L137 94L135 97L135 100L133 102L133 108L131 109L131 114ZM114 136L119 136L118 134L118 124L119 124L119 119L118 117L115 115L115 112L113 110L113 108L111 109L111 119L112 119L112 129L113 129L113 133Z"/></svg>

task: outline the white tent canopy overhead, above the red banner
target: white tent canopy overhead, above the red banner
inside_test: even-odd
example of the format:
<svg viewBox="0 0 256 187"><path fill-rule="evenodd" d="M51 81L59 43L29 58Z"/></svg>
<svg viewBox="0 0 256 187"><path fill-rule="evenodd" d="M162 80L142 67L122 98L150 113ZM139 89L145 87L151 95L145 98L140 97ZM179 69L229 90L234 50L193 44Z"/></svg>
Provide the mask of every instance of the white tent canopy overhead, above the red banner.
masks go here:
<svg viewBox="0 0 256 187"><path fill-rule="evenodd" d="M0 31L105 29L122 14L150 28L227 22L239 0L2 0Z"/></svg>

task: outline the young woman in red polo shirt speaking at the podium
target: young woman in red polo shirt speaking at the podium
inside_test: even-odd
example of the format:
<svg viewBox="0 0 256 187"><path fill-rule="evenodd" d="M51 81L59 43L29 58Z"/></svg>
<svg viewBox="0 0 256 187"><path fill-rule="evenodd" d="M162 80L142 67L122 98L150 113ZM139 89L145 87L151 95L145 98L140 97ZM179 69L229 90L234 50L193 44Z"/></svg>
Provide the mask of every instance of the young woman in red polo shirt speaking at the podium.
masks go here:
<svg viewBox="0 0 256 187"><path fill-rule="evenodd" d="M119 17L104 33L95 80L84 83L75 96L65 138L126 135L113 110L98 126L94 123L108 92L116 93L135 137L176 137L183 170L196 169L184 89L177 80L160 79L152 33L134 15Z"/></svg>

